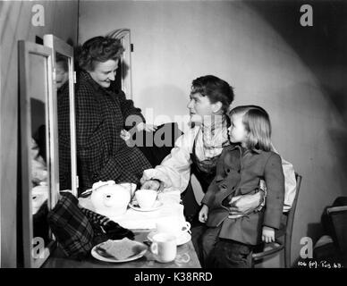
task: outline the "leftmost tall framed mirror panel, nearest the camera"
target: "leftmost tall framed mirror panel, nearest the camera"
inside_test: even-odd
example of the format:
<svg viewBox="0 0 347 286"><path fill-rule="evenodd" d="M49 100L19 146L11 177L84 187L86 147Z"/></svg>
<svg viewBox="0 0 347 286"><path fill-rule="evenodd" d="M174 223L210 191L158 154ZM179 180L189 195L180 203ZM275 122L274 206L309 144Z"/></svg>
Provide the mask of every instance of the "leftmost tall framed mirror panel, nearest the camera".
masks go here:
<svg viewBox="0 0 347 286"><path fill-rule="evenodd" d="M56 108L52 49L19 41L23 266L39 267L55 246L47 213L55 206Z"/></svg>

